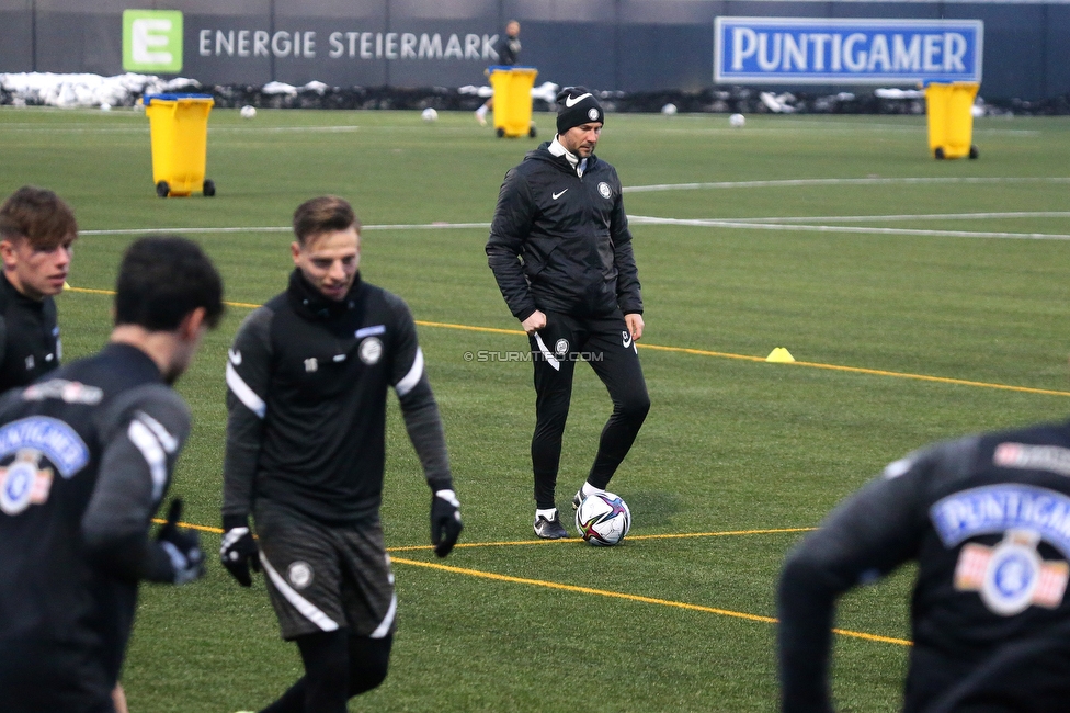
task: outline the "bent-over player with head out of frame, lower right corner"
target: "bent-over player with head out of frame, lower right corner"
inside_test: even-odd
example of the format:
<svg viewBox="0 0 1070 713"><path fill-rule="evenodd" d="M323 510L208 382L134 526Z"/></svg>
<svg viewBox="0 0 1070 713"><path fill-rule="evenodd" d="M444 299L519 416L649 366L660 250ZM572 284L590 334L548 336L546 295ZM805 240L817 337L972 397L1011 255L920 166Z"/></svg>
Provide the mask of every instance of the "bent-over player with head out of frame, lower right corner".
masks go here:
<svg viewBox="0 0 1070 713"><path fill-rule="evenodd" d="M1070 423L912 453L841 503L781 577L783 710L832 710L836 599L907 562L908 713L1070 710Z"/></svg>

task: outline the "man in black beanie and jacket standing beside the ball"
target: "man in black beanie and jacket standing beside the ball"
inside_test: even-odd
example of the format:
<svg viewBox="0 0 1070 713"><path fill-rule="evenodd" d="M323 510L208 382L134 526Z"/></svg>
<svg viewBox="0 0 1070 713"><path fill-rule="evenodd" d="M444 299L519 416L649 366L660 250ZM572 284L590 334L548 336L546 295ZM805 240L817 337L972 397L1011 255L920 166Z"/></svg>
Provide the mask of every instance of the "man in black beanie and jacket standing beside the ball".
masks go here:
<svg viewBox="0 0 1070 713"><path fill-rule="evenodd" d="M535 363L535 533L568 536L554 501L577 360L613 399L594 465L572 499L604 491L650 408L635 342L642 298L616 169L594 156L605 115L582 87L557 98L557 136L505 174L487 256Z"/></svg>

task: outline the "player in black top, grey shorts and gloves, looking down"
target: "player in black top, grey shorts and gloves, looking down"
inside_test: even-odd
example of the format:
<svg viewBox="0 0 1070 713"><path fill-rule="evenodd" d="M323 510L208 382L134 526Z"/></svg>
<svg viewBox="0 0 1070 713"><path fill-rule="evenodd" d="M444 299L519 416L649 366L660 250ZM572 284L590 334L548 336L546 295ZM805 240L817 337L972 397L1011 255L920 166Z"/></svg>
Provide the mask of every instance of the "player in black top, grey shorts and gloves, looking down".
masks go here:
<svg viewBox="0 0 1070 713"><path fill-rule="evenodd" d="M220 557L246 587L249 567L263 568L305 665L270 713L344 713L386 678L397 612L379 521L388 387L431 486L440 557L462 529L412 315L361 279L360 228L342 199L301 204L289 286L246 318L229 352Z"/></svg>

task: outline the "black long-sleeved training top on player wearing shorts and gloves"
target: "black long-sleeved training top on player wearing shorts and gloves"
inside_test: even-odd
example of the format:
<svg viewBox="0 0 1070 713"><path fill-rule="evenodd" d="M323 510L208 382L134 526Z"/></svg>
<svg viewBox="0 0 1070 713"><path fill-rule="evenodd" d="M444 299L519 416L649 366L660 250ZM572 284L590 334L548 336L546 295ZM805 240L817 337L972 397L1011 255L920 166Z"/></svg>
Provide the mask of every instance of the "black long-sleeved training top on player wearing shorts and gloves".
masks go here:
<svg viewBox="0 0 1070 713"><path fill-rule="evenodd" d="M253 498L327 524L377 520L388 386L429 484L453 487L412 315L360 275L333 302L295 270L239 328L227 386L226 529L244 522Z"/></svg>

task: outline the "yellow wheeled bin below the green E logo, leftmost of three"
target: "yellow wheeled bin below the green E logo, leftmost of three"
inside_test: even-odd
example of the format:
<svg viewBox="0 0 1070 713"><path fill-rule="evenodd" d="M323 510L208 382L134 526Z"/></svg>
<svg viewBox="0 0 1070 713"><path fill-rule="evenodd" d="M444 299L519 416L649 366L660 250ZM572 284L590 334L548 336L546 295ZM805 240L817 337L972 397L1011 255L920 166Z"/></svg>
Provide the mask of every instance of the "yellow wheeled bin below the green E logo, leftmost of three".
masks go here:
<svg viewBox="0 0 1070 713"><path fill-rule="evenodd" d="M208 94L147 94L145 113L152 135L152 182L161 199L201 191L216 194L204 178L208 157Z"/></svg>

